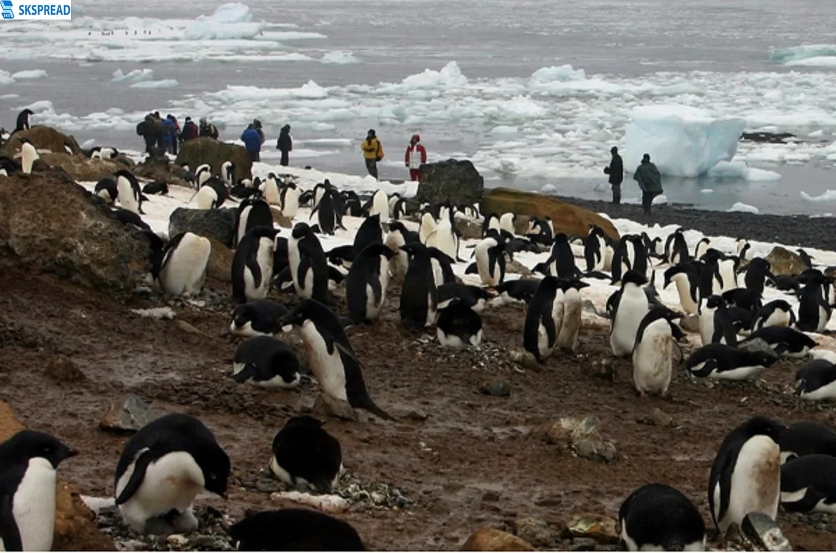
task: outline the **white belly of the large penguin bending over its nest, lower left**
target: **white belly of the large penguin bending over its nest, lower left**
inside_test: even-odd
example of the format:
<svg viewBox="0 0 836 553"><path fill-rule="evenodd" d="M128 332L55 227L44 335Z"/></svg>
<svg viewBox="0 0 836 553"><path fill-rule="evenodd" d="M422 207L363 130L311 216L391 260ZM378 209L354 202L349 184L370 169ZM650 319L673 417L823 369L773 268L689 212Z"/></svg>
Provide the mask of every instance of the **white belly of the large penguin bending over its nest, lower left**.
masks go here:
<svg viewBox="0 0 836 553"><path fill-rule="evenodd" d="M125 489L133 472L134 464L131 463L116 483L116 497ZM125 523L136 532L142 532L147 520L165 515L172 509L191 515L191 504L204 484L203 471L191 454L175 451L148 465L142 484L119 510ZM196 520L193 524L196 528Z"/></svg>

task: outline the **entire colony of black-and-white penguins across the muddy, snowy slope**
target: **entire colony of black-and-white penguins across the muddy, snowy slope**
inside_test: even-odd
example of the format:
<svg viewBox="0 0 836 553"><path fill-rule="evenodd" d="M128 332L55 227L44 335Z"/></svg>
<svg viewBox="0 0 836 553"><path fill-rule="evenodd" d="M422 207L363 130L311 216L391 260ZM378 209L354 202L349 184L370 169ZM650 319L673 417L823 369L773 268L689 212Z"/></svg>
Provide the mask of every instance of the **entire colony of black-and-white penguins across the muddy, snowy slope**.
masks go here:
<svg viewBox="0 0 836 553"><path fill-rule="evenodd" d="M90 155L111 159L117 152L98 148ZM33 159L37 151L24 140L23 172L31 171ZM273 173L263 180L237 180L232 162L217 174L201 165L191 176L196 208L237 204L231 275L237 307L229 327L242 337L230 373L237 383L297 387L303 367L281 339L295 328L324 396L394 420L366 388L363 359L346 327L374 324L386 302L397 302L402 325L435 327L440 347L479 347L490 339L480 313L518 305L526 310L520 343L537 363L547 363L583 348L584 289L603 281L616 287L606 302L609 344L615 358L632 365L640 396L668 395L676 354L689 342L677 322L691 316L699 347L684 364L693 378L746 380L780 358L813 355L796 374L798 398L836 399L836 354L815 349L817 342L808 336L822 332L831 317L833 271L814 268L806 253L808 270L798 277L776 277L746 241L738 243L737 252L719 251L707 238L691 248L681 229L665 237L626 235L612 241L597 226L586 236L568 236L556 231L558 221L531 217L521 229L513 214L481 214L478 205L450 204L421 205L410 214L420 221L415 226L405 220L405 199L383 190L362 201L329 180L311 190ZM136 177L120 170L99 181L94 199L113 206L120 221L149 241L151 274L163 292L196 297L206 282L210 242L191 232L159 236L140 217L141 204L149 201L145 195L167 193L166 183L140 190ZM292 229L274 226L271 205L294 221ZM308 220L302 207L309 209ZM364 218L354 242L325 251L319 236L345 229L345 216ZM460 219L481 224L475 246L462 244ZM543 261L534 267L534 278L508 280L508 265L519 252ZM454 267L474 275L473 284L461 282ZM656 271L664 288L675 287L678 305L660 302ZM400 297L392 294L393 284L400 284ZM336 314L339 302L332 292L340 286L348 318ZM797 296L798 309L784 299L765 301L766 287ZM295 306L268 299L273 289L298 297ZM268 467L288 487L328 494L339 481L344 454L323 426L309 416L293 417L273 439ZM778 505L836 513L836 433L827 427L813 422L787 427L754 416L730 429L718 445L706 491L711 522L720 533L752 512L775 519ZM75 454L59 439L33 431L0 444L4 550L51 547L51 531L44 529L52 525L35 518L54 520L56 470ZM172 414L147 424L125 444L115 470L115 503L125 525L149 534L196 530L197 495L226 497L233 460L212 431L191 416ZM277 527L287 531L277 533ZM696 505L660 483L624 499L619 532L628 550L706 548L706 525ZM364 549L350 525L310 510L261 512L233 525L230 533L246 550Z"/></svg>

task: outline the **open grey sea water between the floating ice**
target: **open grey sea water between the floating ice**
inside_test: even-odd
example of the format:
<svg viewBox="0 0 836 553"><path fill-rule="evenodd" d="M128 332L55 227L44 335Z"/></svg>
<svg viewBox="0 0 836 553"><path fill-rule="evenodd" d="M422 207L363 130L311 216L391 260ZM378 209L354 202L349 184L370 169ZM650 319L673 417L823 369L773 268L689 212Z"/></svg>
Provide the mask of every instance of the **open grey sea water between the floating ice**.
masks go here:
<svg viewBox="0 0 836 553"><path fill-rule="evenodd" d="M110 83L125 63L78 63L38 59L8 61L3 68L15 72L43 68L49 79L16 85L18 99L0 99L3 124L13 126L12 111L21 99L48 99L58 113L90 114L118 107L125 111L165 110L172 99L188 94L223 89L227 84L265 88L293 88L313 79L320 86L400 82L425 68L438 70L455 60L468 79L523 78L538 68L571 63L587 74L618 74L641 77L663 71L712 71L737 74L742 71L789 71L770 62L772 48L802 43L831 43L836 3L820 0L618 0L510 1L378 0L356 3L342 0L247 0L257 20L294 23L293 30L322 33L326 38L294 41L293 51L321 57L334 50L351 51L363 63L326 65L315 62L150 62L132 63L131 68L150 67L155 79L177 79L176 89L130 89ZM125 3L82 2L84 13L94 18L154 17L191 19L212 13L220 2ZM3 44L3 48L23 48ZM797 72L821 71L793 68ZM836 109L836 106L831 106ZM179 114L181 117L186 114ZM292 122L291 122L292 123ZM362 138L365 129L377 126L375 119L339 122L337 131L297 129L294 139L324 139L339 136ZM790 129L792 130L792 129ZM233 139L241 129L225 129ZM426 146L435 153L471 153L487 142L483 133L462 130L456 123L422 124L405 129L421 132ZM278 129L268 129L278 134ZM114 129L85 130L79 140L121 148L140 147L132 132ZM400 150L400 145L393 150ZM334 146L329 146L334 150ZM312 158L321 170L363 174L355 150L339 150ZM395 154L399 155L399 154ZM836 202L799 199L798 190L819 195L836 188L830 165L763 165L782 180L665 181L669 200L726 210L735 202L756 205L764 213L828 214ZM381 178L403 178L400 168L385 167ZM511 185L539 190L553 185L563 194L601 198L595 190L601 180L563 178L516 179L500 176L488 185ZM701 190L710 188L713 194ZM625 195L637 195L630 187Z"/></svg>

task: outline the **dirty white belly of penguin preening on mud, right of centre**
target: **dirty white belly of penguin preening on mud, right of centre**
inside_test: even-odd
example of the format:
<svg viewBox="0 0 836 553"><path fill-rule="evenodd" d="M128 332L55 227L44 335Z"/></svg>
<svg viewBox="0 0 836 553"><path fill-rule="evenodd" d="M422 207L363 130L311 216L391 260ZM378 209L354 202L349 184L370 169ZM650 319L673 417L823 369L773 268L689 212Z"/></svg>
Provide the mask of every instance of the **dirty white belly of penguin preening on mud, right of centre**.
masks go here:
<svg viewBox="0 0 836 553"><path fill-rule="evenodd" d="M633 352L633 383L640 393L665 395L670 386L673 345L670 324L660 319L645 327Z"/></svg>

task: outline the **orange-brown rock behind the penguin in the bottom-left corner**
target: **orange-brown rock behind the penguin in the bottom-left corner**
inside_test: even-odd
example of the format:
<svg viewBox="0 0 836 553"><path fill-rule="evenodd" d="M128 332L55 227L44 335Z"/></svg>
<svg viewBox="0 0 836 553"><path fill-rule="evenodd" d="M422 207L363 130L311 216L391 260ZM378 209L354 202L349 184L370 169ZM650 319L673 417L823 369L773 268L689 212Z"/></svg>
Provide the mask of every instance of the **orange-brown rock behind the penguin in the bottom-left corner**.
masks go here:
<svg viewBox="0 0 836 553"><path fill-rule="evenodd" d="M0 400L0 442L11 438L25 427L15 416L11 406ZM58 436L58 438L61 438ZM74 444L70 440L68 445ZM65 461L72 463L73 459ZM61 469L59 467L59 474ZM78 485L58 481L55 500L54 551L113 551L115 545L102 534L91 510L81 500Z"/></svg>

